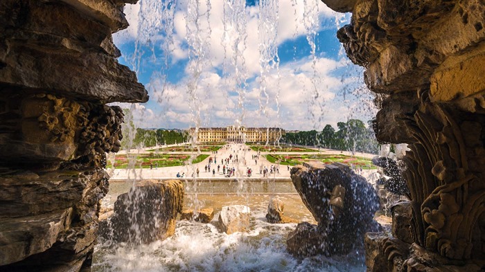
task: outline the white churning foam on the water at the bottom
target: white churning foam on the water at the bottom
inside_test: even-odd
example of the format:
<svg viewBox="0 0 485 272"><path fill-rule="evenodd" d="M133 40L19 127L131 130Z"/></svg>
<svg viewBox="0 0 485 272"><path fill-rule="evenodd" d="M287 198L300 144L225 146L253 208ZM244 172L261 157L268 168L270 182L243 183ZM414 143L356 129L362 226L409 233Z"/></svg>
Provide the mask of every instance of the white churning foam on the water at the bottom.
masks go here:
<svg viewBox="0 0 485 272"><path fill-rule="evenodd" d="M286 251L296 224L269 224L265 207L252 210L249 233L227 235L211 224L177 221L175 235L163 242L130 246L100 241L93 271L364 271L364 256L304 259Z"/></svg>

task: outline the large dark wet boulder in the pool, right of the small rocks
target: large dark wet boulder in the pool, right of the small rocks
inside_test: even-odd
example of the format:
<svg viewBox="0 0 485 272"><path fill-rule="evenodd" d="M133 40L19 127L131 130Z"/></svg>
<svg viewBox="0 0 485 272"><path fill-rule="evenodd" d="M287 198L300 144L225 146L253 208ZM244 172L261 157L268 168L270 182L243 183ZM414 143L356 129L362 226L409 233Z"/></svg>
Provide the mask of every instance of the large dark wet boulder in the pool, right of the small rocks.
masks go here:
<svg viewBox="0 0 485 272"><path fill-rule="evenodd" d="M300 223L288 235L294 255L345 254L362 246L363 235L376 230L376 190L350 167L305 163L291 170L294 187L318 225Z"/></svg>

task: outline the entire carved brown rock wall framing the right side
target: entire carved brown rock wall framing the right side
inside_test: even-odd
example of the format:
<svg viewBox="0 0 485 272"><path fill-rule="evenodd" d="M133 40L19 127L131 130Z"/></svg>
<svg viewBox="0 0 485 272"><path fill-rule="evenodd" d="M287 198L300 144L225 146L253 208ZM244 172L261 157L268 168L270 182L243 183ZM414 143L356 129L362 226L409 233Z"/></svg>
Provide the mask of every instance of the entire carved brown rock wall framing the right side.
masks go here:
<svg viewBox="0 0 485 272"><path fill-rule="evenodd" d="M368 236L368 269L484 269L485 2L322 1L352 12L337 37L376 93L378 140L411 149L412 241Z"/></svg>

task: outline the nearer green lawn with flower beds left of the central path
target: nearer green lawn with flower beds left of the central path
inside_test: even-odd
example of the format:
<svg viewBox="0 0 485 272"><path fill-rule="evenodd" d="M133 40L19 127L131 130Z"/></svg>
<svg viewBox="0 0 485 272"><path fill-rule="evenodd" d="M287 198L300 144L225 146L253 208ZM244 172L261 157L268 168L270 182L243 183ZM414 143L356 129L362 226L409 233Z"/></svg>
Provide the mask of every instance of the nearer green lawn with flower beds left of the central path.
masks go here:
<svg viewBox="0 0 485 272"><path fill-rule="evenodd" d="M202 154L193 159L192 163L200 163L209 157L209 155ZM179 166L185 165L187 161L191 158L190 154L141 154L139 156L126 156L117 155L114 157L114 167L116 169L126 169L129 164L129 160L135 159L136 168L150 168L151 167L169 167L169 166ZM109 161L107 167L113 167L112 163Z"/></svg>

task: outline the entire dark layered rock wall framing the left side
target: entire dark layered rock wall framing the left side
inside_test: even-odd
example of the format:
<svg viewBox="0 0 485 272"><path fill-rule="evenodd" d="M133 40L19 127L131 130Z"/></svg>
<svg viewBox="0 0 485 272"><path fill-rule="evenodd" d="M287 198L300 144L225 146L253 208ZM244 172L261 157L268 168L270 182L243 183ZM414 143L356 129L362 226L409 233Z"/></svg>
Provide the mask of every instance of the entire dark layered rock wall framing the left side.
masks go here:
<svg viewBox="0 0 485 272"><path fill-rule="evenodd" d="M0 270L89 267L105 152L146 102L112 33L137 0L0 1Z"/></svg>

